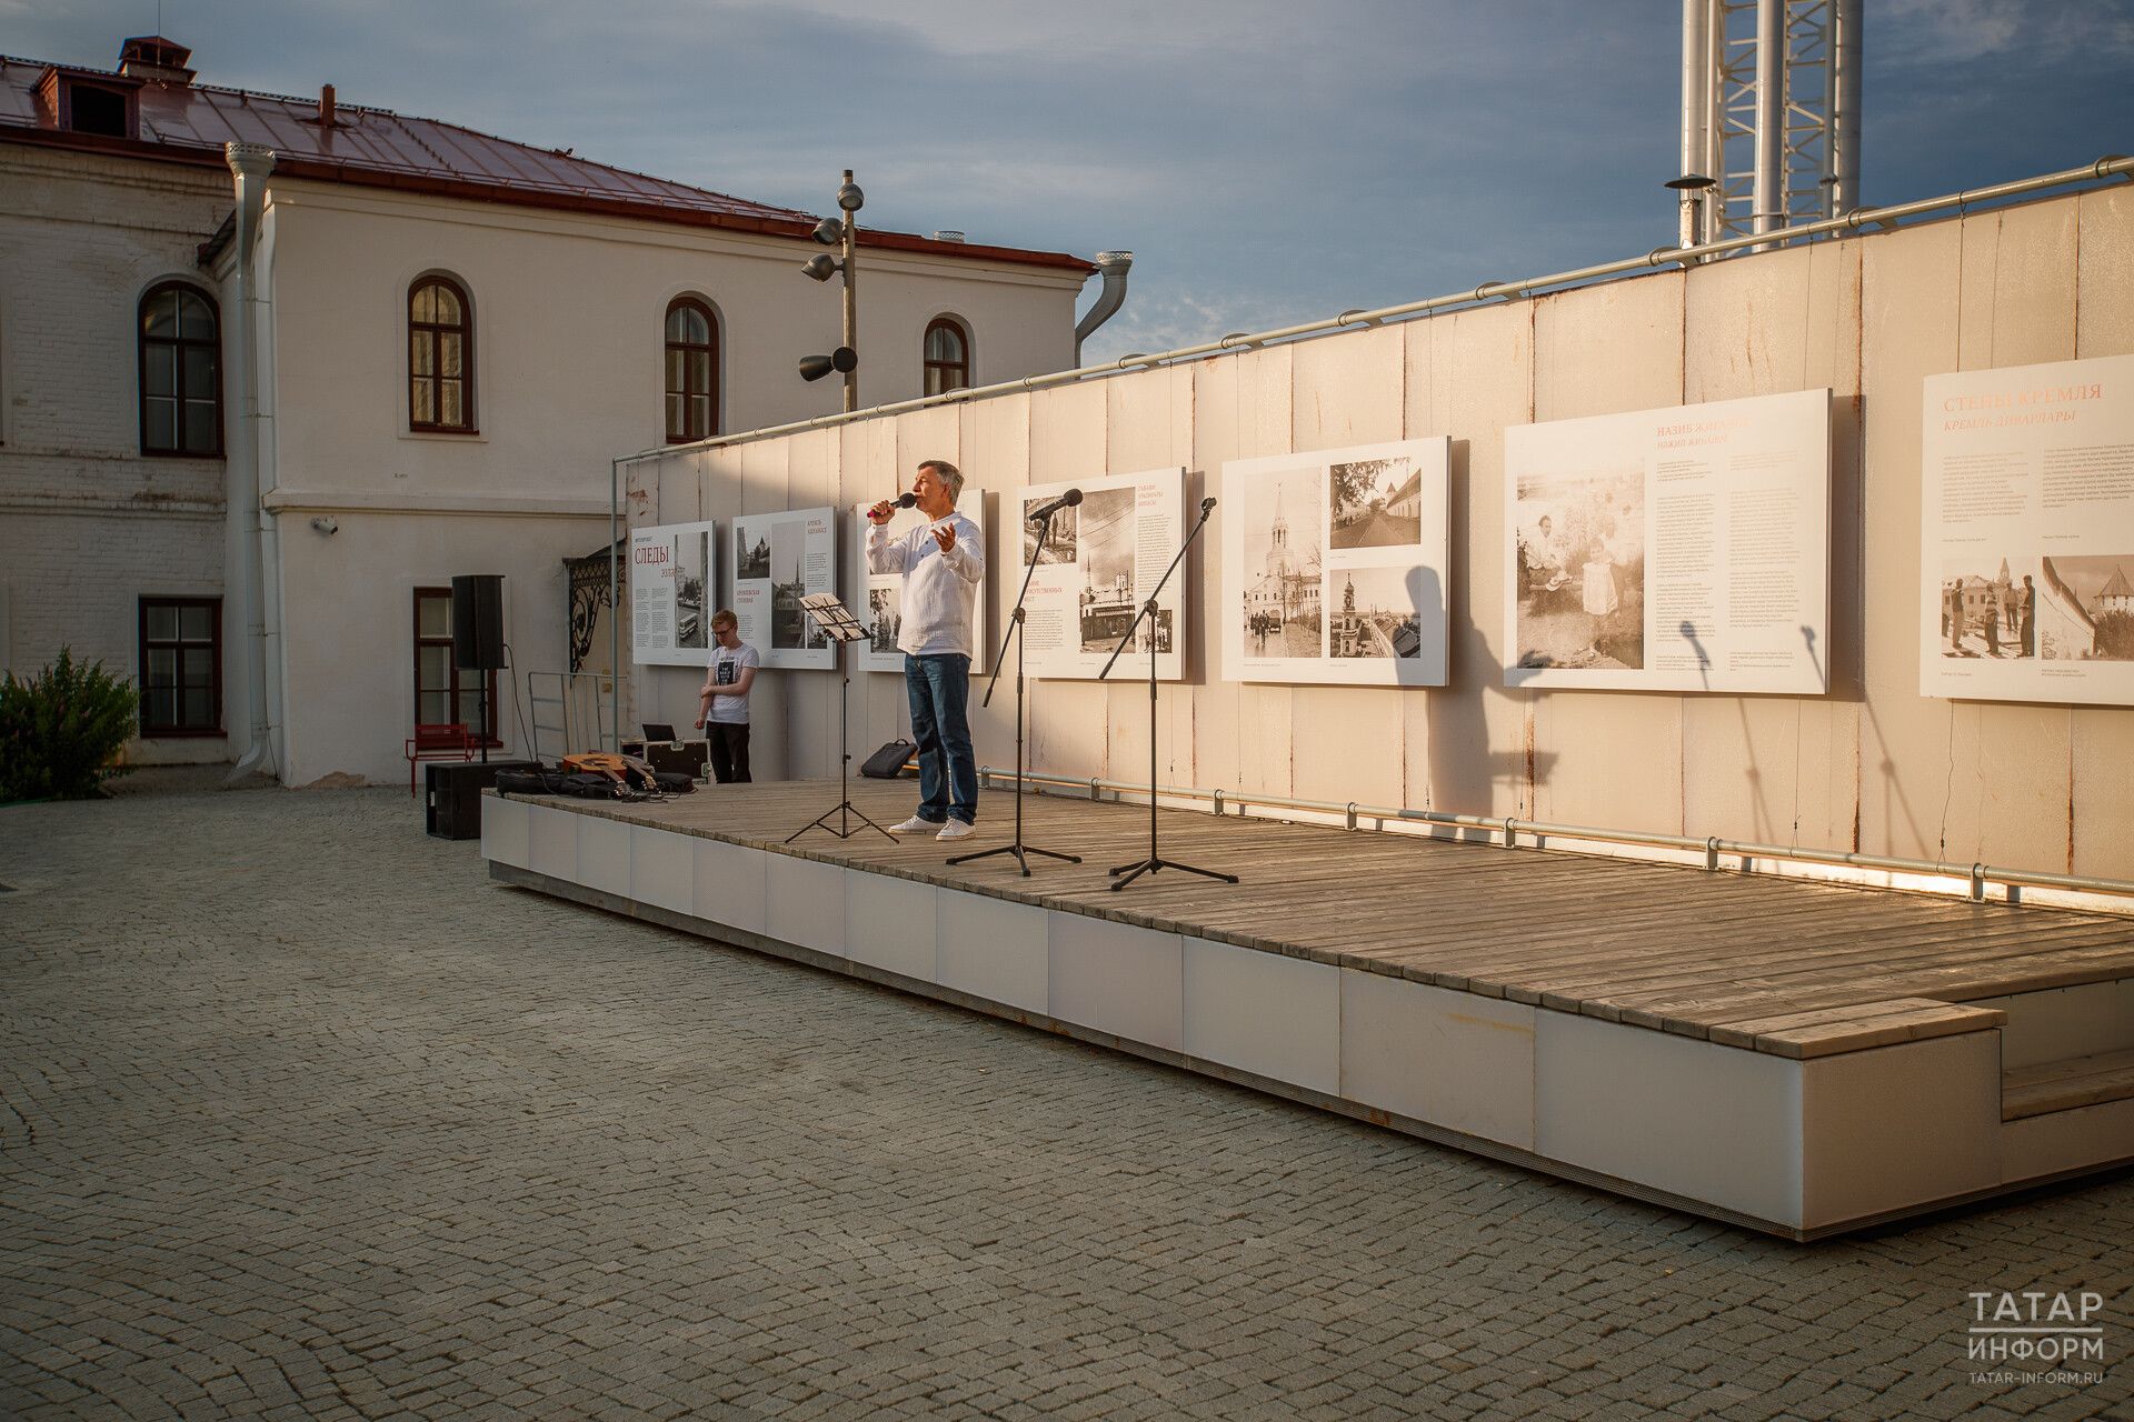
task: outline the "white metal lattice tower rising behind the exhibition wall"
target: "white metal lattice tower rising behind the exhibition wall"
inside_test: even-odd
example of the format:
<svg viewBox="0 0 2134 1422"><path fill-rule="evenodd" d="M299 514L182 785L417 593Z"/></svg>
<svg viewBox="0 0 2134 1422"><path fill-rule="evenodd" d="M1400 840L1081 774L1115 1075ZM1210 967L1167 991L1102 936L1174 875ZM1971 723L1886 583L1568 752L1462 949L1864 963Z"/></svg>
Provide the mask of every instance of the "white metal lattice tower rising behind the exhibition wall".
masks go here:
<svg viewBox="0 0 2134 1422"><path fill-rule="evenodd" d="M1684 0L1682 245L1859 207L1863 0Z"/></svg>

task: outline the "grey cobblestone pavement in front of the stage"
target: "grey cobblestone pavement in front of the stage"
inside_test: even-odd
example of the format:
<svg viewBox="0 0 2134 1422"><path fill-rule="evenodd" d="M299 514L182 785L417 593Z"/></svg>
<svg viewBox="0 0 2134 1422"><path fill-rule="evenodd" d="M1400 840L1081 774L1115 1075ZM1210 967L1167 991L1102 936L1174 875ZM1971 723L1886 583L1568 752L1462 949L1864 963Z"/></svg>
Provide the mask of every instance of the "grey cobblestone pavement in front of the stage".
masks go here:
<svg viewBox="0 0 2134 1422"><path fill-rule="evenodd" d="M0 810L0 1416L2130 1416L2128 1177L1778 1243L501 889L393 791ZM1974 1381L1997 1288L2102 1292L2104 1381Z"/></svg>

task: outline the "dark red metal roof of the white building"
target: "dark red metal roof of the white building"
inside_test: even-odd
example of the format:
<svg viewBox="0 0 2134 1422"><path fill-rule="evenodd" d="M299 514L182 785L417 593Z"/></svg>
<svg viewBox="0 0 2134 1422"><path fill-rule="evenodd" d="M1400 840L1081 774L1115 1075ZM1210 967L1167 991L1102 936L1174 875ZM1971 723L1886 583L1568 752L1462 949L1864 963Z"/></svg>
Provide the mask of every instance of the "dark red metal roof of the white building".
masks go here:
<svg viewBox="0 0 2134 1422"><path fill-rule="evenodd" d="M262 143L275 149L275 171L288 177L403 188L525 207L610 211L653 222L743 228L775 237L807 237L817 222L813 213L792 207L749 203L723 192L576 158L570 149L553 151L512 143L459 124L359 104L335 104L333 124L322 124L316 98L198 83L143 83L137 90L139 141L68 134L60 132L55 117L38 104L36 90L49 70L83 79L117 79L115 70L0 55L0 141L43 141L213 166L222 166L224 143ZM869 247L1024 262L1073 269L1084 275L1097 271L1090 262L1065 252L943 243L911 232L883 232L864 226L860 241Z"/></svg>

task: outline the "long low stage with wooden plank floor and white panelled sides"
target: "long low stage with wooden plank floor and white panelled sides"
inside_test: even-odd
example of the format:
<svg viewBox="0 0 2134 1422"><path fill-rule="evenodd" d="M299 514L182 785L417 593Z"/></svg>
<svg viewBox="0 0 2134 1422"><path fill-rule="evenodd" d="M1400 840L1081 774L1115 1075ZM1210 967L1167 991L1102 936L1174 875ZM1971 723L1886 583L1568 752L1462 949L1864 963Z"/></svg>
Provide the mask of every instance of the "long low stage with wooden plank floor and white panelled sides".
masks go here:
<svg viewBox="0 0 2134 1422"><path fill-rule="evenodd" d="M856 780L881 823L909 780ZM1793 1239L2134 1160L2134 919L982 797L954 844L785 836L828 782L484 799L499 880Z"/></svg>

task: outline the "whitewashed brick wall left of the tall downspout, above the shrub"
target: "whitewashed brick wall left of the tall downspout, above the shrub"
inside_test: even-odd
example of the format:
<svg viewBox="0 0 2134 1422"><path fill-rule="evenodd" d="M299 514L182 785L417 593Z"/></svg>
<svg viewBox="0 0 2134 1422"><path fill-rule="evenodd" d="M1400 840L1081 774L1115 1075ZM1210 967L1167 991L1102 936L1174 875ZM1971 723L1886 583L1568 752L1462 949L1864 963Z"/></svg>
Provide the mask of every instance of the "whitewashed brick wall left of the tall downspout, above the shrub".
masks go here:
<svg viewBox="0 0 2134 1422"><path fill-rule="evenodd" d="M152 284L194 281L228 360L196 247L230 181L0 145L0 657L23 676L64 644L134 676L139 597L222 593L224 465L141 454L137 318Z"/></svg>

